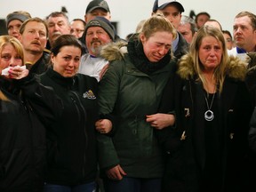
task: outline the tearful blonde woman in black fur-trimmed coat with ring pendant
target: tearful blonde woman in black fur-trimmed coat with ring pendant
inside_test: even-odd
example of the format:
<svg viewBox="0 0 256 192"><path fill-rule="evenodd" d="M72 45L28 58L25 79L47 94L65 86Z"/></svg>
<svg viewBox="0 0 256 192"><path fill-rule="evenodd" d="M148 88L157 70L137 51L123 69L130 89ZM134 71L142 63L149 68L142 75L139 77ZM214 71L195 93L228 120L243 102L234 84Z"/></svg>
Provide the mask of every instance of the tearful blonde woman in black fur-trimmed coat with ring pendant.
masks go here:
<svg viewBox="0 0 256 192"><path fill-rule="evenodd" d="M176 122L165 140L163 191L248 191L246 66L228 57L219 29L200 28L190 46L174 79Z"/></svg>

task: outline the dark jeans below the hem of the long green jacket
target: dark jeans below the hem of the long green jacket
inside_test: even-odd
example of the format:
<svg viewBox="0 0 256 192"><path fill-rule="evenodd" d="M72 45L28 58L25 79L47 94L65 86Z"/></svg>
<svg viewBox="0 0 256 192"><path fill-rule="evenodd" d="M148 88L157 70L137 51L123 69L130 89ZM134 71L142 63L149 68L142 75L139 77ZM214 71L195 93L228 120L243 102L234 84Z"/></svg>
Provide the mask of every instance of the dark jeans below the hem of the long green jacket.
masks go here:
<svg viewBox="0 0 256 192"><path fill-rule="evenodd" d="M160 192L161 179L124 177L123 180L104 179L105 192Z"/></svg>

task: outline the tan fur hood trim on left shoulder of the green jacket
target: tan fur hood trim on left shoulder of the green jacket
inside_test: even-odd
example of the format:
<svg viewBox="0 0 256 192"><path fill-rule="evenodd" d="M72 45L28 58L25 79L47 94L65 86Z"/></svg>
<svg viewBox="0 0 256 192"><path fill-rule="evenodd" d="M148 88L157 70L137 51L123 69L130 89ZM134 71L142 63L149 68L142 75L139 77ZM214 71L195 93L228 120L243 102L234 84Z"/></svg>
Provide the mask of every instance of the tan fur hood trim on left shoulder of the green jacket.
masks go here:
<svg viewBox="0 0 256 192"><path fill-rule="evenodd" d="M109 62L113 60L122 60L124 59L124 53L127 53L127 44L128 43L123 40L107 44L102 47L100 57Z"/></svg>

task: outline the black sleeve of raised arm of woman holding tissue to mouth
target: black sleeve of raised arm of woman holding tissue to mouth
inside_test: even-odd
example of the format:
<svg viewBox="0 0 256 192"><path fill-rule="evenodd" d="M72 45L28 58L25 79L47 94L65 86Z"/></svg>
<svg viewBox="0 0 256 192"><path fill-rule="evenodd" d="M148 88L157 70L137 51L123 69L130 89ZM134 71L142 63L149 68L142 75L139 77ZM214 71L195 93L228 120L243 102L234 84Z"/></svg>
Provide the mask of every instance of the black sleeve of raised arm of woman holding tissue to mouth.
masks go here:
<svg viewBox="0 0 256 192"><path fill-rule="evenodd" d="M57 97L52 88L40 84L37 76L27 76L18 80L16 84L45 126L53 124L56 118L60 117L63 109L62 100Z"/></svg>

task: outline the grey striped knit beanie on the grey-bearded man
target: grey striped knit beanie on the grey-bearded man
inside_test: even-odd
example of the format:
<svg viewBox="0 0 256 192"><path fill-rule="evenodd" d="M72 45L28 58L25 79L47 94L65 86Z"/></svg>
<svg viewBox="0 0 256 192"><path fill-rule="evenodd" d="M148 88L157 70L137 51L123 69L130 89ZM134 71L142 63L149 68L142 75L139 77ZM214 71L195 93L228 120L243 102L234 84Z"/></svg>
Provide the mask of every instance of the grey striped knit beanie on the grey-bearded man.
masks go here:
<svg viewBox="0 0 256 192"><path fill-rule="evenodd" d="M116 36L116 29L115 27L111 24L109 20L103 17L95 17L93 20L90 20L86 26L85 26L85 34L87 32L88 28L91 27L100 27L103 28L107 33L108 36L112 39L112 41L115 41L115 36Z"/></svg>

